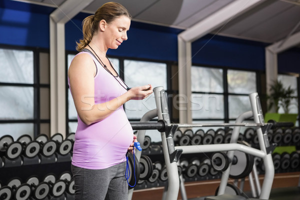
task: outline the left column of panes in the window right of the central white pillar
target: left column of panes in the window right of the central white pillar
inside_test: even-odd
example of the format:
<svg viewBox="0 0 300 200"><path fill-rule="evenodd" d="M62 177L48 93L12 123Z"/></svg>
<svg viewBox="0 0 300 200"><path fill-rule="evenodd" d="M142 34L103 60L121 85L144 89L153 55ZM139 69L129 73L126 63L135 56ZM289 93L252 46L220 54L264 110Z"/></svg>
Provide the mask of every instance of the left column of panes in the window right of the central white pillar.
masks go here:
<svg viewBox="0 0 300 200"><path fill-rule="evenodd" d="M224 122L223 69L191 66L191 91L193 123ZM206 131L210 128L200 129ZM193 128L193 131L197 129Z"/></svg>

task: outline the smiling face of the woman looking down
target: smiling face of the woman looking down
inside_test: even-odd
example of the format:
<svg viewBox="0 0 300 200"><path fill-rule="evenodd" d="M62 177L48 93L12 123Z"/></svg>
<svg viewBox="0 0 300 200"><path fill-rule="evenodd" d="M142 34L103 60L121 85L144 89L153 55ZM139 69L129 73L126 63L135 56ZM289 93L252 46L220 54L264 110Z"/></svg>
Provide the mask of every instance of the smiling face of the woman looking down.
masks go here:
<svg viewBox="0 0 300 200"><path fill-rule="evenodd" d="M106 23L105 44L108 48L115 49L127 39L127 30L129 30L130 19L125 16L119 16L110 23Z"/></svg>

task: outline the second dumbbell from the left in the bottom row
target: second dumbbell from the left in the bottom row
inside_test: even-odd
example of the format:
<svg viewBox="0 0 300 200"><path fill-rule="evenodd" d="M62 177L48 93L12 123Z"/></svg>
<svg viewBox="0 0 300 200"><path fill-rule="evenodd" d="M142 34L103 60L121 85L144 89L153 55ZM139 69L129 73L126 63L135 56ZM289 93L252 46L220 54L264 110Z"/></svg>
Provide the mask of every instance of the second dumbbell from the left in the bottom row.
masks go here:
<svg viewBox="0 0 300 200"><path fill-rule="evenodd" d="M11 188L14 200L27 200L31 194L30 185L21 183L21 180L18 177L12 178L7 183L7 186Z"/></svg>

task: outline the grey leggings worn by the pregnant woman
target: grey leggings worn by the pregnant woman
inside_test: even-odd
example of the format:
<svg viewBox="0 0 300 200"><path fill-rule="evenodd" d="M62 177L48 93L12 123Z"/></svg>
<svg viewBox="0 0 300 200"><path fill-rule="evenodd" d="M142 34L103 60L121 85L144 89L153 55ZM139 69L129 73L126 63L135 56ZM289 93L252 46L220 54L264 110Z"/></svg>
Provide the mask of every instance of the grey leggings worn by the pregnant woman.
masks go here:
<svg viewBox="0 0 300 200"><path fill-rule="evenodd" d="M71 165L75 200L125 200L128 184L126 161L105 169L86 169Z"/></svg>

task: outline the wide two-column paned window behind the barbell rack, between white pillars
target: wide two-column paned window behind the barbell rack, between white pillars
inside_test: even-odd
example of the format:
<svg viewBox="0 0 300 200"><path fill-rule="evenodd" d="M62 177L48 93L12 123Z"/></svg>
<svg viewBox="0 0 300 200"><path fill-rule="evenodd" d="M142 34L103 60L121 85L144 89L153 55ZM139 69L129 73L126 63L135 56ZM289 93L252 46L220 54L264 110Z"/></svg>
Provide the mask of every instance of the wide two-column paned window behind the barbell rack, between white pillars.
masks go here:
<svg viewBox="0 0 300 200"><path fill-rule="evenodd" d="M251 110L248 95L256 92L256 73L192 66L191 91L193 122L234 121L241 113ZM205 131L209 128L202 129Z"/></svg>

